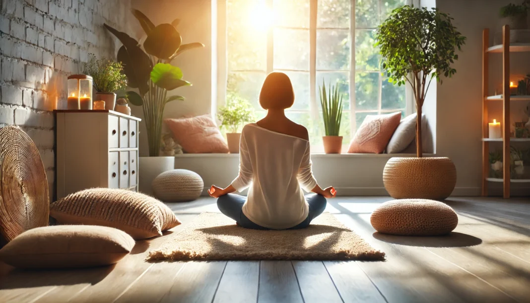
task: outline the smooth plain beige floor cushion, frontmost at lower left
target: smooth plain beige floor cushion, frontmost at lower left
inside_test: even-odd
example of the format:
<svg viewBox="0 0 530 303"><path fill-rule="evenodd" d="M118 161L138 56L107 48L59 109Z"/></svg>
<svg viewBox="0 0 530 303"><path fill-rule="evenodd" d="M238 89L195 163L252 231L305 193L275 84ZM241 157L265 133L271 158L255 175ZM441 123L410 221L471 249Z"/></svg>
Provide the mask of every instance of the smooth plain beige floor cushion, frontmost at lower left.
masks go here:
<svg viewBox="0 0 530 303"><path fill-rule="evenodd" d="M21 233L0 250L0 260L26 269L114 264L133 249L127 233L104 226L61 225Z"/></svg>

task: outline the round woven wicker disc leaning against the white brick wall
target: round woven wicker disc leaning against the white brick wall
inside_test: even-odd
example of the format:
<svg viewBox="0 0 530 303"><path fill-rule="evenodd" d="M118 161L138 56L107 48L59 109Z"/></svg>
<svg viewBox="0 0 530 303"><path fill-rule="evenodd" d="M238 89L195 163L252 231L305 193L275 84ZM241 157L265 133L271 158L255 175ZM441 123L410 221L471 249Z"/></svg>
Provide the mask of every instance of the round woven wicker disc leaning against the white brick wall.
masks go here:
<svg viewBox="0 0 530 303"><path fill-rule="evenodd" d="M37 146L16 126L0 129L0 235L48 226L50 196Z"/></svg>

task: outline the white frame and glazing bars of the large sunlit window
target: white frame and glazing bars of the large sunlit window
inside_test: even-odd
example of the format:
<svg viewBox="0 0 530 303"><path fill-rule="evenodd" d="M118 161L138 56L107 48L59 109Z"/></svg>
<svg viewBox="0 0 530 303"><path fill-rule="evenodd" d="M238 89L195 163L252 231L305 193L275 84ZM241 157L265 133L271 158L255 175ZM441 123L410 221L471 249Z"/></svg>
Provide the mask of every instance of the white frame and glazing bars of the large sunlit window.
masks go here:
<svg viewBox="0 0 530 303"><path fill-rule="evenodd" d="M269 10L272 10L274 0L264 0L265 5ZM305 72L310 75L310 108L307 110L289 110L289 112L310 112L310 114L318 115L319 111L317 100L317 83L316 83L316 74L317 72L344 72L349 73L349 96L350 96L350 108L344 110L348 113L350 118L350 134L353 136L357 131L356 123L356 114L358 113L373 113L373 114L384 114L387 112L395 112L398 110L405 110L405 115L410 115L416 112L416 106L414 102L413 92L410 88L410 85L405 85L405 108L400 109L382 109L382 74L379 71L364 71L357 70L355 62L355 34L357 30L374 30L375 28L357 28L355 26L355 5L356 0L350 0L350 27L349 28L328 28L328 27L317 27L317 7L318 1L320 0L309 0L310 3L310 24L308 28L305 27L285 27L280 25L273 25L267 29L267 69L266 71L262 70L228 70L227 63L227 0L213 0L212 1L212 41L215 43L214 48L216 48L217 55L212 54L212 81L216 82L212 85L212 105L211 112L212 114L217 113L219 107L223 107L226 103L226 86L229 72L259 72L264 73L265 75L273 72ZM384 0L376 0L378 4L378 18L381 18L381 5ZM215 2L215 4L214 4ZM420 0L407 0L407 5L414 5L419 7ZM381 20L379 20L381 23ZM309 70L291 70L291 69L274 69L274 30L275 29L293 29L293 30L308 30L310 35L310 64ZM317 48L317 31L318 30L348 30L349 31L349 40L350 40L350 67L349 70L317 70L316 68L316 48ZM214 37L216 36L216 37ZM369 73L378 73L378 100L377 100L377 109L361 109L356 110L356 92L355 92L355 75L357 72L369 72ZM216 78L216 81L215 79ZM349 144L349 142L344 142L343 144Z"/></svg>

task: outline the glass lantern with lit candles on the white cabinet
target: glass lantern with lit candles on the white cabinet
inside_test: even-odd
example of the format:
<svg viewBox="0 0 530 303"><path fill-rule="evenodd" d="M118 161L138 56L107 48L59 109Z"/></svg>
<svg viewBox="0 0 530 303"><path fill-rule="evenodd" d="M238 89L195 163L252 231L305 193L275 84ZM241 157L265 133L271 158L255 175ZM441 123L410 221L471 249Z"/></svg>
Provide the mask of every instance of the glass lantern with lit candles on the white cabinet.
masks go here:
<svg viewBox="0 0 530 303"><path fill-rule="evenodd" d="M68 109L92 109L92 77L68 76Z"/></svg>

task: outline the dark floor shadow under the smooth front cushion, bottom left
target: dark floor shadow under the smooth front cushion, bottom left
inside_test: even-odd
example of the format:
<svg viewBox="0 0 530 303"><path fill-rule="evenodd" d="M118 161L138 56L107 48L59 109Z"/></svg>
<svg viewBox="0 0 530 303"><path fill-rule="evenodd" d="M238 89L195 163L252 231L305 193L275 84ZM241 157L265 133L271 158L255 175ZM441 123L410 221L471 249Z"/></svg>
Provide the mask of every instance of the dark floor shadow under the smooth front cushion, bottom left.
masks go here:
<svg viewBox="0 0 530 303"><path fill-rule="evenodd" d="M43 286L96 284L107 276L116 264L90 269L19 270L13 269L0 276L0 289L18 289ZM1 300L0 300L1 301Z"/></svg>

